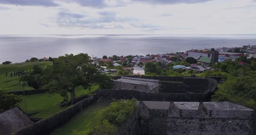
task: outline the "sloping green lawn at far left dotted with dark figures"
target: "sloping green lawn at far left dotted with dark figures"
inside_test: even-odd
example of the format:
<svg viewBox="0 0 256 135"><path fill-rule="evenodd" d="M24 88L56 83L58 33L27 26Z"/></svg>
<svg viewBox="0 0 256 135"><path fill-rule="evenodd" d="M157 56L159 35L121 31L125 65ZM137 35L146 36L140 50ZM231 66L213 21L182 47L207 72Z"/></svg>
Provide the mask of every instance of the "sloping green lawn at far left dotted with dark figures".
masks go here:
<svg viewBox="0 0 256 135"><path fill-rule="evenodd" d="M46 68L48 65L53 64L50 61L45 62L24 62L24 63L16 63L16 64L8 64L8 65L0 65L0 89L7 89L7 91L16 91L23 90L21 86L19 86L20 77L13 76L10 77L10 73L14 71L32 71L32 68L35 64L38 64L42 68ZM8 73L7 77L5 74ZM33 87L25 87L25 90L33 90Z"/></svg>

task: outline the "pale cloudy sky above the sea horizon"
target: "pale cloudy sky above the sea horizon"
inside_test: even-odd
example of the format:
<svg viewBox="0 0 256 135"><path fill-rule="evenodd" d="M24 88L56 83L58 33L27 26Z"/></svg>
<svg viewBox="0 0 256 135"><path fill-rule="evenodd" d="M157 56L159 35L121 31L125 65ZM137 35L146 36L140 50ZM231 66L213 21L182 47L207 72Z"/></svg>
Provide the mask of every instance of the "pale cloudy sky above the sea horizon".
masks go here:
<svg viewBox="0 0 256 135"><path fill-rule="evenodd" d="M0 0L0 35L256 34L256 0Z"/></svg>

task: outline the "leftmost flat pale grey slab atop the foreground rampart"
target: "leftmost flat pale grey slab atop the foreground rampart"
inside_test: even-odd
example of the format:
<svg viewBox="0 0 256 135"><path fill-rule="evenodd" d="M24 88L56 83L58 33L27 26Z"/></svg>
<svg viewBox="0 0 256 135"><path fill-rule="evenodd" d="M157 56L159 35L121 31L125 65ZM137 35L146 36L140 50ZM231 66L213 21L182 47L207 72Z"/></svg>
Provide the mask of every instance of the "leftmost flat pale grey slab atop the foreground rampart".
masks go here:
<svg viewBox="0 0 256 135"><path fill-rule="evenodd" d="M149 109L169 109L170 102L143 101Z"/></svg>

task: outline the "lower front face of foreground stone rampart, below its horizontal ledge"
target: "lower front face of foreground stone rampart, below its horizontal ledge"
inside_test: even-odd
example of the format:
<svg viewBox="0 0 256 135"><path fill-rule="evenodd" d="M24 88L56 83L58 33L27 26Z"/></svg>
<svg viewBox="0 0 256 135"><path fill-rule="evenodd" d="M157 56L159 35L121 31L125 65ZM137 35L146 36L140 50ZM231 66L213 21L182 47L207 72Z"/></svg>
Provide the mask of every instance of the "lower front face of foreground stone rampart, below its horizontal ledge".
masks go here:
<svg viewBox="0 0 256 135"><path fill-rule="evenodd" d="M252 120L140 118L140 135L253 135Z"/></svg>

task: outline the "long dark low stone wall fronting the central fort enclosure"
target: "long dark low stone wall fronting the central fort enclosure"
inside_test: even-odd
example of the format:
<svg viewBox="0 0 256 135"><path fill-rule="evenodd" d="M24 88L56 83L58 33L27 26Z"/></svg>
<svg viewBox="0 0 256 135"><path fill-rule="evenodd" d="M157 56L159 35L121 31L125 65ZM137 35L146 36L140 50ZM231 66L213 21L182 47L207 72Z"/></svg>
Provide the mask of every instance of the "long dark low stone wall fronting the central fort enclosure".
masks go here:
<svg viewBox="0 0 256 135"><path fill-rule="evenodd" d="M138 90L97 90L97 95L107 99L132 99L144 101L207 101L203 93L150 93Z"/></svg>

